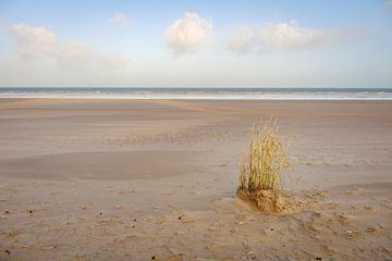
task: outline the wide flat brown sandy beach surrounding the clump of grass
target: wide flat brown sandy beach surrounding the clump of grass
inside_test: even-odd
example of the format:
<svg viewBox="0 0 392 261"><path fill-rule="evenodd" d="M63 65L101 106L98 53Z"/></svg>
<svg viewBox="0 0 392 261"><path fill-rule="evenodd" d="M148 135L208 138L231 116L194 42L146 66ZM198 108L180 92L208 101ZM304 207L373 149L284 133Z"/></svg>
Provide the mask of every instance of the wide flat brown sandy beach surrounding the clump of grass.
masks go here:
<svg viewBox="0 0 392 261"><path fill-rule="evenodd" d="M235 198L254 122L301 202ZM0 99L0 260L392 260L391 101Z"/></svg>

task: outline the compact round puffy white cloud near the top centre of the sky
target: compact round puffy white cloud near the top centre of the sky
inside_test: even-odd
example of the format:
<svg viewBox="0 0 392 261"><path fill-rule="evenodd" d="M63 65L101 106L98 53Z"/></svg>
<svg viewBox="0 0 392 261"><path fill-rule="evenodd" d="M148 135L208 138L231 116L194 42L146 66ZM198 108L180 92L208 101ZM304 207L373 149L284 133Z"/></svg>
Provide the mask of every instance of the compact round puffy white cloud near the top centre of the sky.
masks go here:
<svg viewBox="0 0 392 261"><path fill-rule="evenodd" d="M198 52L212 32L212 24L197 13L185 13L166 33L167 46L174 54Z"/></svg>

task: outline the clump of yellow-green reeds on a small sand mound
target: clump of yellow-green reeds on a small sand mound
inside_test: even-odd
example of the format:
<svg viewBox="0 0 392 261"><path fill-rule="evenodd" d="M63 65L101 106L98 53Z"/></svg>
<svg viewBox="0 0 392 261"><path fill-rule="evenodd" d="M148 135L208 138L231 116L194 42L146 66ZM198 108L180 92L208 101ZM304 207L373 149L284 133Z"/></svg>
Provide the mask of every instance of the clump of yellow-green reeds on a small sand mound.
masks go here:
<svg viewBox="0 0 392 261"><path fill-rule="evenodd" d="M282 173L290 169L290 141L283 144L277 119L255 125L249 152L244 154L240 167L237 196L256 203L265 211L281 211L284 206L279 196Z"/></svg>

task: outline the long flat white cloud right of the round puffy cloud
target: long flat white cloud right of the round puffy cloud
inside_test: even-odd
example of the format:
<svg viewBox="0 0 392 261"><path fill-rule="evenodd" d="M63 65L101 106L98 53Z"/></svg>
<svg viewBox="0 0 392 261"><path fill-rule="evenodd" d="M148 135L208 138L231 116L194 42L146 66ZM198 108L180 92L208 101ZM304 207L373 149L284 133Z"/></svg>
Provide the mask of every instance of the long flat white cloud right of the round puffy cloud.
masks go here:
<svg viewBox="0 0 392 261"><path fill-rule="evenodd" d="M323 32L301 27L295 21L261 26L258 29L244 27L231 38L228 48L235 52L292 51L316 48L335 42L339 32Z"/></svg>

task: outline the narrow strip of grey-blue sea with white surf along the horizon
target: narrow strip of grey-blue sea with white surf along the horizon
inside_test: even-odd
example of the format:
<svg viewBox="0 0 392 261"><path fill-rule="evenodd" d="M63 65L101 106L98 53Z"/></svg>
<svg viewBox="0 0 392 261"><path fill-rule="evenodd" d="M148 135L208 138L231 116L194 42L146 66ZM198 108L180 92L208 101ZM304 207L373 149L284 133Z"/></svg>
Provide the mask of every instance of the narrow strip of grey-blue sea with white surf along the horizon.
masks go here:
<svg viewBox="0 0 392 261"><path fill-rule="evenodd" d="M114 88L9 87L0 98L392 100L392 88Z"/></svg>

